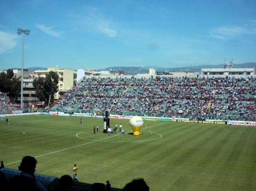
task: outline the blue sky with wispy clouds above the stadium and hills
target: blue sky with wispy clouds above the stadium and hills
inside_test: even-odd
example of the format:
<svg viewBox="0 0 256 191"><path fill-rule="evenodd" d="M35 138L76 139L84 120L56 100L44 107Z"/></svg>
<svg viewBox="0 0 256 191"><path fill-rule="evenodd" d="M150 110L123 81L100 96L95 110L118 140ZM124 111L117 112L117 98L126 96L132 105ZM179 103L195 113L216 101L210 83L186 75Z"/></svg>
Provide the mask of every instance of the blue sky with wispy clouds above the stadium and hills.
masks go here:
<svg viewBox="0 0 256 191"><path fill-rule="evenodd" d="M0 0L0 70L256 62L256 0Z"/></svg>

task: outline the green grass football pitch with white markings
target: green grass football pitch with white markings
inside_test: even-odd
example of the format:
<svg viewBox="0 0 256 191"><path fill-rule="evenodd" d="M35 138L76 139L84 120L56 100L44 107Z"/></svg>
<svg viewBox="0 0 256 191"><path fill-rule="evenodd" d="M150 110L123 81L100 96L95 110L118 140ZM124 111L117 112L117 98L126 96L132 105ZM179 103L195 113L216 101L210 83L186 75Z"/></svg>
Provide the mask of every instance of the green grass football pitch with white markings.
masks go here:
<svg viewBox="0 0 256 191"><path fill-rule="evenodd" d="M29 115L0 118L0 160L17 169L23 156L37 157L36 173L111 182L123 188L143 177L150 191L256 190L256 128L144 121L143 135L102 133L99 118ZM99 133L93 125L99 123ZM148 128L147 128L148 127ZM149 131L150 130L150 131ZM23 134L24 133L24 134Z"/></svg>

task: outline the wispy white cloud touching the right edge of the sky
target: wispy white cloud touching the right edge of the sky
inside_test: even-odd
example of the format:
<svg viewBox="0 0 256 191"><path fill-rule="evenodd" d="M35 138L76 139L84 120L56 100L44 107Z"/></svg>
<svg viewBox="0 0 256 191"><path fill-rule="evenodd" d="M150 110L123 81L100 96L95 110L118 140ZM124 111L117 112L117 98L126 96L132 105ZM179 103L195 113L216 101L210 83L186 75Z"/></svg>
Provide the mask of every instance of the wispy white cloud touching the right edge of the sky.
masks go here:
<svg viewBox="0 0 256 191"><path fill-rule="evenodd" d="M256 35L256 27L252 24L241 26L224 26L213 29L209 34L218 39L227 39L241 35Z"/></svg>

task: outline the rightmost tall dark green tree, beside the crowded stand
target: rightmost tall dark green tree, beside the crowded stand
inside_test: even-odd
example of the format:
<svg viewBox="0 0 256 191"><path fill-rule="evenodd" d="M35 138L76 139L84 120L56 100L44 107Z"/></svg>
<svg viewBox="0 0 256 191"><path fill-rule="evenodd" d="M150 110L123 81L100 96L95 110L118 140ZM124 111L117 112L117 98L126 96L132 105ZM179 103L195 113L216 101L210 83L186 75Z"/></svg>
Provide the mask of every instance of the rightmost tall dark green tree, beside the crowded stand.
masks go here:
<svg viewBox="0 0 256 191"><path fill-rule="evenodd" d="M44 92L49 95L47 99L48 107L53 103L54 94L58 91L58 74L55 71L50 71L44 79Z"/></svg>

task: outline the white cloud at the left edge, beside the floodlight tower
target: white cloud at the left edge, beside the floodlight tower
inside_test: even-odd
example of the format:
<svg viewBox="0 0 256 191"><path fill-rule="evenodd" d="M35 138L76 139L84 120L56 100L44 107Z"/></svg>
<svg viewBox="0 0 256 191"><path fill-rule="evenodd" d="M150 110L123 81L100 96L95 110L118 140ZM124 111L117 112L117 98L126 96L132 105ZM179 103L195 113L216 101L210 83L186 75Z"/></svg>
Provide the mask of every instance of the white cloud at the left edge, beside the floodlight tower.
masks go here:
<svg viewBox="0 0 256 191"><path fill-rule="evenodd" d="M15 34L0 31L0 54L11 51L17 45Z"/></svg>

